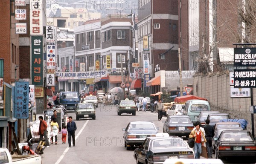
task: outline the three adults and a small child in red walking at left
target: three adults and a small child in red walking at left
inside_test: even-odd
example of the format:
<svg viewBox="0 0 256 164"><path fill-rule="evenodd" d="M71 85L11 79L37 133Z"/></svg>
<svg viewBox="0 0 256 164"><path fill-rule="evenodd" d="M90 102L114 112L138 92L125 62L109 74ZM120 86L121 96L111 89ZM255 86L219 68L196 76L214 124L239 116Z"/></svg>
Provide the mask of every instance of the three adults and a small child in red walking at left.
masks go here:
<svg viewBox="0 0 256 164"><path fill-rule="evenodd" d="M53 111L54 114L51 116L51 144L53 144L53 137L55 137L55 145L57 145L57 141L58 141L58 134L62 134L61 140L62 140L62 144L66 144L66 138L67 138L67 134L68 134L68 145L69 147L71 147L71 138L72 138L72 142L73 142L73 146L75 146L75 132L76 132L76 123L72 120L72 116L69 116L69 122L67 123L67 126L63 126L62 130L59 131L59 126L58 126L58 122L57 122L57 111L54 110ZM46 144L46 147L49 147L49 140L48 140L48 136L47 136L47 122L44 121L43 116L39 116L39 130L38 130L38 135L40 135L39 138L39 142L43 140L44 137L44 141Z"/></svg>

